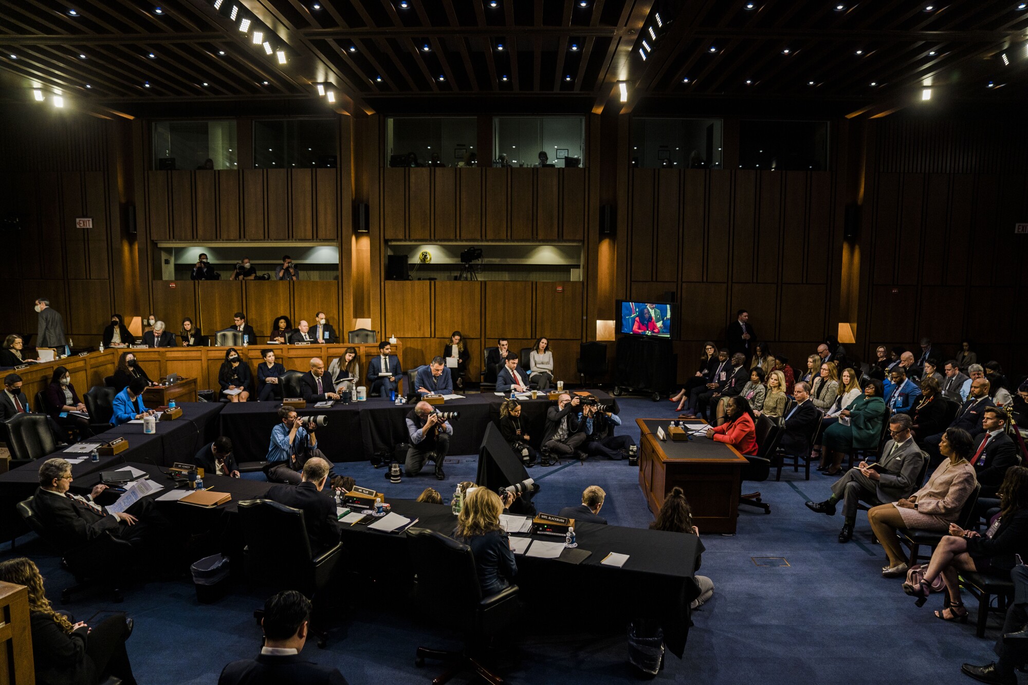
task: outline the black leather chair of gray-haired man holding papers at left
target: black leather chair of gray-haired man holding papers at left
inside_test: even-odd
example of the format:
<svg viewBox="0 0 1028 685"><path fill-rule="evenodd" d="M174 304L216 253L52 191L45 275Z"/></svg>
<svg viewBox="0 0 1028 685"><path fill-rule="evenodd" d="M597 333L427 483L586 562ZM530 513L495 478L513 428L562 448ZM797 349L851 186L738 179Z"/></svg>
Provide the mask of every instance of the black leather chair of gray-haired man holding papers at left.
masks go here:
<svg viewBox="0 0 1028 685"><path fill-rule="evenodd" d="M108 589L115 602L121 602L122 582L131 577L136 557L132 545L105 532L86 545L65 548L49 535L32 507L32 498L17 503L17 513L42 540L57 549L63 566L75 577L75 584L61 590L61 602L68 604L72 593L100 585Z"/></svg>

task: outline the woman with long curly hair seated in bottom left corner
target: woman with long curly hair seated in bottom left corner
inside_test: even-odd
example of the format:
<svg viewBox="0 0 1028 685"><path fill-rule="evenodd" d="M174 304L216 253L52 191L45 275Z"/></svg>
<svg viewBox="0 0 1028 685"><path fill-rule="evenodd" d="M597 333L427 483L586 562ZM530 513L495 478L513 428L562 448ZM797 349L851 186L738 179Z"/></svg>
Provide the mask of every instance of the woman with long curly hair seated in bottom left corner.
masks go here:
<svg viewBox="0 0 1028 685"><path fill-rule="evenodd" d="M135 685L125 640L132 635L132 619L114 615L96 625L72 623L53 611L43 589L43 577L24 556L0 563L0 580L29 589L29 622L36 682L99 683L115 676L124 685Z"/></svg>

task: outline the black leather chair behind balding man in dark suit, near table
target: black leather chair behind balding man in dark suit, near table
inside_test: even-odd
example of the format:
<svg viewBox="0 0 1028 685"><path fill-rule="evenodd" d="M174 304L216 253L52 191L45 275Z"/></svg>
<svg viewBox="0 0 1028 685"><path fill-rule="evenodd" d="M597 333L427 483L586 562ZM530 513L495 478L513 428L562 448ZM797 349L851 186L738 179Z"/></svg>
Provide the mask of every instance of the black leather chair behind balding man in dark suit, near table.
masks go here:
<svg viewBox="0 0 1028 685"><path fill-rule="evenodd" d="M316 603L310 619L318 646L325 648L324 624L320 619L321 598L339 561L342 543L315 553L300 509L271 500L240 502L243 529L244 566L251 582L271 587L276 592L296 589Z"/></svg>

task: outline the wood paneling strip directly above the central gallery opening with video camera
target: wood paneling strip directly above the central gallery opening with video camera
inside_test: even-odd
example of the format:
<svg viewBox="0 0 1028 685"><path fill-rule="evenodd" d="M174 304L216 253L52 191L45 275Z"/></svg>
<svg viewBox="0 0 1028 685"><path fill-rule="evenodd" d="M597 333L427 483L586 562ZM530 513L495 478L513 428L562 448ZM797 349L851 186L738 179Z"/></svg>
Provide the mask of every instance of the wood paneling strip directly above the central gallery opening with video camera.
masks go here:
<svg viewBox="0 0 1028 685"><path fill-rule="evenodd" d="M585 169L381 169L384 240L580 241Z"/></svg>

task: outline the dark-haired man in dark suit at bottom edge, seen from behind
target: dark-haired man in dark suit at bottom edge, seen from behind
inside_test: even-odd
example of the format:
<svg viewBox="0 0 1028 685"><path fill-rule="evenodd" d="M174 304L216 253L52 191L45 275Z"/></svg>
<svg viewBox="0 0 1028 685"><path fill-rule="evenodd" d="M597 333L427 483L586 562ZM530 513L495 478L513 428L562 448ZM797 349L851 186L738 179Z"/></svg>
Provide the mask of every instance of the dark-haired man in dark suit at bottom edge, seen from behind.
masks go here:
<svg viewBox="0 0 1028 685"><path fill-rule="evenodd" d="M218 685L347 685L338 669L300 658L310 609L310 601L296 590L283 590L265 602L260 654L226 665Z"/></svg>

